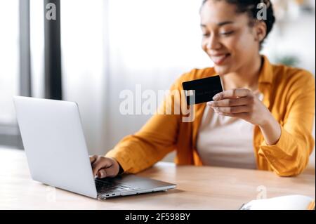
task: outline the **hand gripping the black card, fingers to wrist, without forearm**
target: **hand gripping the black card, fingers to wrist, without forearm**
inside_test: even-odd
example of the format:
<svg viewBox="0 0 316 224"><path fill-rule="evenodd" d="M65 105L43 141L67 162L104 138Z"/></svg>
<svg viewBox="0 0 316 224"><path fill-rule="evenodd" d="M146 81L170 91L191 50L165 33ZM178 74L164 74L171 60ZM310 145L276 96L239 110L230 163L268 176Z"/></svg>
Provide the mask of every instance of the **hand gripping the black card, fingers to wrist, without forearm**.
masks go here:
<svg viewBox="0 0 316 224"><path fill-rule="evenodd" d="M246 88L231 89L218 93L214 101L207 103L215 112L228 117L238 117L251 124L263 126L271 116L261 100Z"/></svg>

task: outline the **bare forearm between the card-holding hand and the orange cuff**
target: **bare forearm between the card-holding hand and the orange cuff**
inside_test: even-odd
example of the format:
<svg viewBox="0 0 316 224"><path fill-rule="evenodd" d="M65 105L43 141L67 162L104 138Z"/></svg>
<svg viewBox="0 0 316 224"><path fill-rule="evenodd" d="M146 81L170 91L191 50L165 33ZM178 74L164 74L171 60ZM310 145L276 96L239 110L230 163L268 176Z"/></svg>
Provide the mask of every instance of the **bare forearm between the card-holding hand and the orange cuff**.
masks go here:
<svg viewBox="0 0 316 224"><path fill-rule="evenodd" d="M259 125L259 128L267 145L275 145L277 143L281 136L281 126L272 114L265 119L263 124Z"/></svg>

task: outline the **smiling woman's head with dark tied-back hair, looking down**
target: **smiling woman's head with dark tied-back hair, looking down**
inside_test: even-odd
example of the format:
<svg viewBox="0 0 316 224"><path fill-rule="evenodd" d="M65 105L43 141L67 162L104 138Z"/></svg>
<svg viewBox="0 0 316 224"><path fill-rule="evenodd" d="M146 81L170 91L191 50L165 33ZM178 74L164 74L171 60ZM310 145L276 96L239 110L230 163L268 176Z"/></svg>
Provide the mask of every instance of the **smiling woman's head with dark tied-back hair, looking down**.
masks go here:
<svg viewBox="0 0 316 224"><path fill-rule="evenodd" d="M258 52L275 22L270 3L266 6L266 20L256 19L261 2L203 1L200 11L202 48L217 65L218 74L258 73L261 66Z"/></svg>

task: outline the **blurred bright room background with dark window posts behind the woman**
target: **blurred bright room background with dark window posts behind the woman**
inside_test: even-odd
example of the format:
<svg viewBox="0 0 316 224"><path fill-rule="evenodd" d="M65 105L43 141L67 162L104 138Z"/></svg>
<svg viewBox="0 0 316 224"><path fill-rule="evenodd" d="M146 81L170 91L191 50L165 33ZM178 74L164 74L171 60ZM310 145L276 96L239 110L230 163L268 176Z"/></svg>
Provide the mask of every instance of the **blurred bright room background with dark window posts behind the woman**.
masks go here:
<svg viewBox="0 0 316 224"><path fill-rule="evenodd" d="M315 75L315 1L272 2L277 23L263 53ZM48 3L57 12L50 22ZM121 115L120 91L167 90L184 72L213 65L200 47L201 3L0 0L0 147L22 149L13 95L77 102L90 154L138 131L150 115Z"/></svg>

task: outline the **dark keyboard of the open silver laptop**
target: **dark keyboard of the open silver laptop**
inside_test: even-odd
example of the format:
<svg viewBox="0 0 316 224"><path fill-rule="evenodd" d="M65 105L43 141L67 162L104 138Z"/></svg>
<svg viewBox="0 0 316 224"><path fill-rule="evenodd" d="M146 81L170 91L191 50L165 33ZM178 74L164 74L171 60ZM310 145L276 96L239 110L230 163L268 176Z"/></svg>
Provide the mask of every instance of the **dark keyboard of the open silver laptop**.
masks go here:
<svg viewBox="0 0 316 224"><path fill-rule="evenodd" d="M113 181L96 180L96 189L100 194L110 194L114 192L124 192L127 190L138 190L139 187L133 187L131 185L115 183Z"/></svg>

